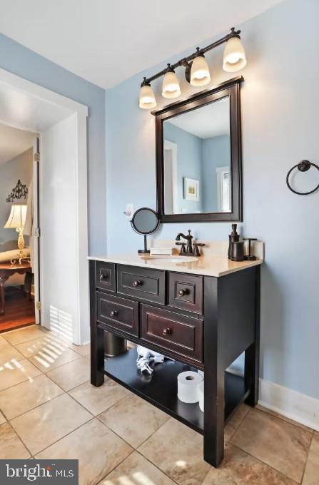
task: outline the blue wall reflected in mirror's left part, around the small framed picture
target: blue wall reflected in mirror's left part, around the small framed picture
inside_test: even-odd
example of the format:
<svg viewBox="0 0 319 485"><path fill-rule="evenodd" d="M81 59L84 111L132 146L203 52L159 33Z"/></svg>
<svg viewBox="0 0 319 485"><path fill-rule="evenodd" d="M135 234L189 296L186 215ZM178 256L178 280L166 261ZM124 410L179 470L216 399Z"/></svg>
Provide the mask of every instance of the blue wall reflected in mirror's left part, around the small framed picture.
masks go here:
<svg viewBox="0 0 319 485"><path fill-rule="evenodd" d="M172 125L169 121L164 123L163 137L164 140L172 141L177 145L178 212L201 212L203 210L202 139ZM199 180L198 202L184 198L185 177Z"/></svg>

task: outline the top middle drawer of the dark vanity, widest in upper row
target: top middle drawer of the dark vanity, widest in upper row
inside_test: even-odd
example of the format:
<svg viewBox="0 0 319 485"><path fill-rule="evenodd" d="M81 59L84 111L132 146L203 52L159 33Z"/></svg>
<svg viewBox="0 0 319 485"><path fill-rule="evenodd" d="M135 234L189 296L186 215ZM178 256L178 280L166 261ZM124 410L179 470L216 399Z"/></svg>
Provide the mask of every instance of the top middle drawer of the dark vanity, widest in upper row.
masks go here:
<svg viewBox="0 0 319 485"><path fill-rule="evenodd" d="M118 265L118 293L165 305L165 271Z"/></svg>

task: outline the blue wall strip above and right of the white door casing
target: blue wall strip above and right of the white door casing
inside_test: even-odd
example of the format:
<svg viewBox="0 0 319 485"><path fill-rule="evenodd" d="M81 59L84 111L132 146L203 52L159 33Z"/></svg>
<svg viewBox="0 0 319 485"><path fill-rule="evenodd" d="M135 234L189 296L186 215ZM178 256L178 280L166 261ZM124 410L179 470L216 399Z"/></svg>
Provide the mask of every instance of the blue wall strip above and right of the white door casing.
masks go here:
<svg viewBox="0 0 319 485"><path fill-rule="evenodd" d="M0 68L88 106L89 250L105 252L105 91L2 34Z"/></svg>

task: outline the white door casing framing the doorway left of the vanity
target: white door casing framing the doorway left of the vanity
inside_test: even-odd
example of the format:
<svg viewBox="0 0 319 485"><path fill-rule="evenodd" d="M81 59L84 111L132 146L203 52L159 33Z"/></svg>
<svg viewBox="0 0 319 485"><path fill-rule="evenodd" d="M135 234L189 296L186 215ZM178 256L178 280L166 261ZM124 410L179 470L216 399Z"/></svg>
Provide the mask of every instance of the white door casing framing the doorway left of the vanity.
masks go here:
<svg viewBox="0 0 319 485"><path fill-rule="evenodd" d="M74 322L74 343L82 344L87 340L85 328L89 322L88 303L88 218L87 218L87 144L86 144L86 118L88 107L66 96L50 91L38 84L27 81L9 71L0 68L0 83L34 96L47 103L61 108L67 108L70 115L76 115L76 226L77 243L76 259L77 271L77 307L79 319ZM24 129L29 130L27 126ZM33 131L33 130L31 130ZM40 137L41 141L41 137ZM40 146L41 149L41 146ZM43 254L43 251L41 251ZM83 332L84 330L84 332Z"/></svg>

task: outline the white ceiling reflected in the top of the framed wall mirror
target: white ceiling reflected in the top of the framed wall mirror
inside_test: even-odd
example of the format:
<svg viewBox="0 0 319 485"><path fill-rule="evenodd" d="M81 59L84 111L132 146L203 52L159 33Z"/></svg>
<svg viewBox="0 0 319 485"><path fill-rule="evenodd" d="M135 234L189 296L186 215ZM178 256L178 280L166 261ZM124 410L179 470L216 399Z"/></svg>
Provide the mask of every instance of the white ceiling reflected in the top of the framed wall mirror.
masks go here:
<svg viewBox="0 0 319 485"><path fill-rule="evenodd" d="M171 123L199 138L229 134L229 98L223 98L208 106L170 118ZM164 126L165 126L164 123ZM165 130L165 128L164 128Z"/></svg>

